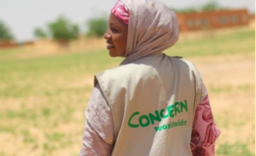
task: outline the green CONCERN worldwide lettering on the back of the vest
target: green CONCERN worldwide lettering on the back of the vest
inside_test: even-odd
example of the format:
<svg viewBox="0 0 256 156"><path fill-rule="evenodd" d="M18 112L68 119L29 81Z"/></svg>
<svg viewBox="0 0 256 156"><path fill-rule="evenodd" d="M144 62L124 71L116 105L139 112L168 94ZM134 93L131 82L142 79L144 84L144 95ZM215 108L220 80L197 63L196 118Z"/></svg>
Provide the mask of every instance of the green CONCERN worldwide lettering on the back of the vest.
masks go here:
<svg viewBox="0 0 256 156"><path fill-rule="evenodd" d="M171 104L168 106L166 109L161 109L154 111L154 113L149 113L149 115L140 115L139 111L136 111L132 113L132 116L130 116L129 121L128 121L128 126L131 128L145 128L150 125L154 125L156 121L161 122L162 119L164 118L174 118L177 116L179 113L187 113L188 112L188 104L187 101L185 100L184 102L176 102L174 104ZM137 119L135 119L135 117ZM156 131L160 130L167 130L170 128L178 127L178 126L186 126L187 121L184 121L183 119L180 121L178 120L177 122L172 121L171 123L164 125L164 126L159 126L155 127Z"/></svg>

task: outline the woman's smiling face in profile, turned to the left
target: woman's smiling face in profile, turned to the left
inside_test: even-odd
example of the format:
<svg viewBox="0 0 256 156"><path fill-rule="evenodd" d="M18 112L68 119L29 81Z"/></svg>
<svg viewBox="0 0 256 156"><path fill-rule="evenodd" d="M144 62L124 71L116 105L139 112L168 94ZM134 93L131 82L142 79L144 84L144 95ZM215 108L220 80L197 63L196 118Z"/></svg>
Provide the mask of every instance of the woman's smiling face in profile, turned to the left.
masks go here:
<svg viewBox="0 0 256 156"><path fill-rule="evenodd" d="M111 57L123 57L127 48L128 25L110 13L109 29L104 35Z"/></svg>

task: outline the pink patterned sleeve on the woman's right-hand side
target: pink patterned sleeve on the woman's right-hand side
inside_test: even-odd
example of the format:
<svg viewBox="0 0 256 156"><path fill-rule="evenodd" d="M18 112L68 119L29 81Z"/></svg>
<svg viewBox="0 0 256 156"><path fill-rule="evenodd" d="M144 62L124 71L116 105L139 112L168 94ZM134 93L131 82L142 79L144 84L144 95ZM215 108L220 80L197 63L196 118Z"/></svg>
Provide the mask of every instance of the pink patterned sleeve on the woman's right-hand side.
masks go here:
<svg viewBox="0 0 256 156"><path fill-rule="evenodd" d="M220 135L220 130L214 123L210 101L204 85L202 90L204 96L196 108L191 136L191 151L193 156L214 156L215 140Z"/></svg>

